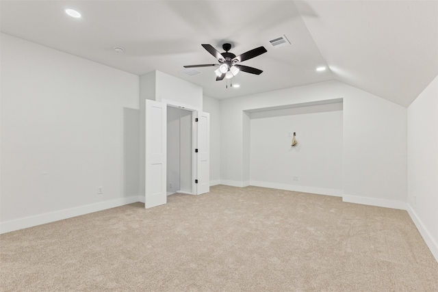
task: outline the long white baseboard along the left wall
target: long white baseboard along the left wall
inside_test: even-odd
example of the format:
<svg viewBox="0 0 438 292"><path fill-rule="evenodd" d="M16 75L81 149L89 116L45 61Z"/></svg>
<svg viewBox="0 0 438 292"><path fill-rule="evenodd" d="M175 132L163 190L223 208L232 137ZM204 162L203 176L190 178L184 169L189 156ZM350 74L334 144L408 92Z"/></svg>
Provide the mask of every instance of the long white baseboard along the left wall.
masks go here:
<svg viewBox="0 0 438 292"><path fill-rule="evenodd" d="M24 217L16 220L10 220L0 223L0 234L9 233L11 231L20 230L23 228L29 228L33 226L38 226L41 224L46 224L50 222L55 222L58 220L64 220L71 217L76 217L80 215L85 215L88 213L93 213L97 211L102 211L105 209L110 209L114 207L120 207L125 204L131 204L139 201L140 196L130 196L126 198L118 198L114 200L107 200L104 202L98 202L95 204L88 204L81 207L75 207L71 209L64 209L60 211L54 211L50 213L44 213L40 215L34 215L29 217ZM143 198L144 200L144 198Z"/></svg>

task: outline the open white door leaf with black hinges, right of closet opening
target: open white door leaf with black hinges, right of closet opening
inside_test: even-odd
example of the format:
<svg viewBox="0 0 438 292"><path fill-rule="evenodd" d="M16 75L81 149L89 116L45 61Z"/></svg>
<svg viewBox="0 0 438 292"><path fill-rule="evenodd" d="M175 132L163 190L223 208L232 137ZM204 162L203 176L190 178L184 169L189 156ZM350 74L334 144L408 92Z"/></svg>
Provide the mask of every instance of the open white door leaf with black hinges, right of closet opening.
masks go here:
<svg viewBox="0 0 438 292"><path fill-rule="evenodd" d="M196 111L196 194L210 191L210 114Z"/></svg>

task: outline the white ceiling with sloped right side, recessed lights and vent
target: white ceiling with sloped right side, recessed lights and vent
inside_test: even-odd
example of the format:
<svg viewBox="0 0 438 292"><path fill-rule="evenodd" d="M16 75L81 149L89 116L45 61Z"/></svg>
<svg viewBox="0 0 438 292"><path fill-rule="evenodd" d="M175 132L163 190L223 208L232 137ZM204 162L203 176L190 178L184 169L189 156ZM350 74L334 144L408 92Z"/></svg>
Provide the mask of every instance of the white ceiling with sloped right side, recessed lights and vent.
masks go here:
<svg viewBox="0 0 438 292"><path fill-rule="evenodd" d="M231 98L328 80L407 107L438 75L438 1L0 1L1 31L107 66L143 75L159 70ZM70 18L73 8L81 18ZM285 35L290 46L269 40ZM201 44L240 55L263 70L216 81ZM116 53L114 47L123 47ZM327 66L323 72L318 66ZM230 85L228 83L228 85Z"/></svg>

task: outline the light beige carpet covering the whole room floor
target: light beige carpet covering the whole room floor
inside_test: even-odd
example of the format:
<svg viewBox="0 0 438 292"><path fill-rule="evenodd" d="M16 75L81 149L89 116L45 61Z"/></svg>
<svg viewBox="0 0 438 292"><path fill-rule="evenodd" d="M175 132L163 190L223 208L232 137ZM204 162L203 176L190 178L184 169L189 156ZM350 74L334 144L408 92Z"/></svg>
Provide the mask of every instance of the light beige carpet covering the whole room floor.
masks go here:
<svg viewBox="0 0 438 292"><path fill-rule="evenodd" d="M0 236L1 291L438 291L406 211L218 185Z"/></svg>

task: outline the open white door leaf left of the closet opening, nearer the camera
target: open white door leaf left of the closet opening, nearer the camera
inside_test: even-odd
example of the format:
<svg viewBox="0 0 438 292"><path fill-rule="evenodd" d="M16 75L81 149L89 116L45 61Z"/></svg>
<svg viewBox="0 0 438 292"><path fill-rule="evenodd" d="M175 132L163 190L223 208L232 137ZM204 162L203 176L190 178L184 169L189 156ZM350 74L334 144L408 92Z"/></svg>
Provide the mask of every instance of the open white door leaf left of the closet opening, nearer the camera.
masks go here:
<svg viewBox="0 0 438 292"><path fill-rule="evenodd" d="M167 106L146 99L146 185L144 207L166 204Z"/></svg>

